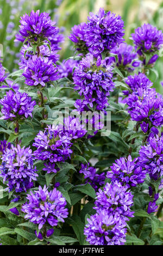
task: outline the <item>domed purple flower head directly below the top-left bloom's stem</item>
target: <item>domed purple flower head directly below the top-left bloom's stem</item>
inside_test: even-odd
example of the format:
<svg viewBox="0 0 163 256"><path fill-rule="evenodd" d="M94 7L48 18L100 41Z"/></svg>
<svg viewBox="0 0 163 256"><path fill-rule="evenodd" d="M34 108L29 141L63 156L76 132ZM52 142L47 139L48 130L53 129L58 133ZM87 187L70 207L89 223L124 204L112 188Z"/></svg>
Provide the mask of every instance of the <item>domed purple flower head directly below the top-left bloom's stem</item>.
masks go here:
<svg viewBox="0 0 163 256"><path fill-rule="evenodd" d="M57 67L53 65L52 60L48 58L37 58L33 56L28 60L27 66L24 69L23 76L26 78L25 83L28 86L46 86L46 83L58 80Z"/></svg>

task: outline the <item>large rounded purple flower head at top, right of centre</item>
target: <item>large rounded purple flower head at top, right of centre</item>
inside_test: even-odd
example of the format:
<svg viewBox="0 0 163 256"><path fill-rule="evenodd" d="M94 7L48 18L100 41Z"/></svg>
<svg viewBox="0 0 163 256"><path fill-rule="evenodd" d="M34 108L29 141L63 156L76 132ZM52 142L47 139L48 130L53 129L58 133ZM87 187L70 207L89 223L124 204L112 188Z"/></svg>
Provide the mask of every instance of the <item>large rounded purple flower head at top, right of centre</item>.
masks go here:
<svg viewBox="0 0 163 256"><path fill-rule="evenodd" d="M124 41L122 37L124 35L124 22L120 15L116 16L111 11L105 13L104 9L100 8L96 15L90 13L87 19L86 46L95 56L102 52L109 52Z"/></svg>

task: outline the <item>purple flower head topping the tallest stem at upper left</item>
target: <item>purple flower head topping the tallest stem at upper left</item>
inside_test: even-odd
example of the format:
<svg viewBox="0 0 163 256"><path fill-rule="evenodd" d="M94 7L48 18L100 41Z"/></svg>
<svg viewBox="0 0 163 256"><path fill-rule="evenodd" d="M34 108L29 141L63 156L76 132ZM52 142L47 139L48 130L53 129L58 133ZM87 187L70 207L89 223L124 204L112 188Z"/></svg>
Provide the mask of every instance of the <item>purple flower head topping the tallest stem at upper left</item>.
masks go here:
<svg viewBox="0 0 163 256"><path fill-rule="evenodd" d="M28 38L30 42L37 43L46 40L49 36L57 32L48 13L40 13L34 10L29 14L24 14L20 20L20 34Z"/></svg>

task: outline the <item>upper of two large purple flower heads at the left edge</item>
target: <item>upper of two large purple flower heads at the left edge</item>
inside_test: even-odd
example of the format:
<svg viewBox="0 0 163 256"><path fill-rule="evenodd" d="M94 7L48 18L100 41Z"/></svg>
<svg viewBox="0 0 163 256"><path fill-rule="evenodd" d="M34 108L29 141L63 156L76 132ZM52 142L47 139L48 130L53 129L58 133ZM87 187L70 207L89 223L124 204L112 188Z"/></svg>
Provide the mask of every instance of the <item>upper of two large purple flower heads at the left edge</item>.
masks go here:
<svg viewBox="0 0 163 256"><path fill-rule="evenodd" d="M36 102L32 101L27 93L14 93L12 90L6 93L6 96L0 100L0 103L3 105L1 109L3 117L0 119L10 120L28 118L28 116L32 117L32 112L36 105Z"/></svg>

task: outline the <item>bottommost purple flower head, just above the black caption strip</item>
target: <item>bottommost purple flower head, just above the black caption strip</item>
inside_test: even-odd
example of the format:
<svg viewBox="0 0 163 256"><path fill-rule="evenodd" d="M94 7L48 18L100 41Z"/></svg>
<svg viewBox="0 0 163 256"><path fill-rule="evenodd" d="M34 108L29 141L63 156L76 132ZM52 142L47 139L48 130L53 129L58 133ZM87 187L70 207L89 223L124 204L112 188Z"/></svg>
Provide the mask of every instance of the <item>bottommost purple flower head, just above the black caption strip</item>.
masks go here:
<svg viewBox="0 0 163 256"><path fill-rule="evenodd" d="M117 214L101 210L87 218L84 228L86 241L90 245L124 245L126 242L126 222Z"/></svg>

